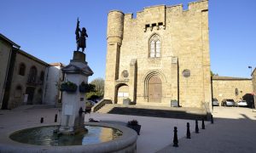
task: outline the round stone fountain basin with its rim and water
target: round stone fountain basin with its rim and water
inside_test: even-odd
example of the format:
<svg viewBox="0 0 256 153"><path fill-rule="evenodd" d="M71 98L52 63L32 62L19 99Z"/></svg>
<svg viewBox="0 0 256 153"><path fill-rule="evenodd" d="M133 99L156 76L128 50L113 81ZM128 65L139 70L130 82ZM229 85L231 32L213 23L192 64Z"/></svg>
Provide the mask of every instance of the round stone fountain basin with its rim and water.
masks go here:
<svg viewBox="0 0 256 153"><path fill-rule="evenodd" d="M86 122L89 132L84 133L84 136L80 137L78 140L73 138L73 135L65 136L64 141L59 141L49 139L45 133L51 133L51 129L55 129L55 126L44 126L44 127L32 127L26 128L14 133L11 133L8 144L0 144L0 152L135 152L137 148L137 133L129 127L124 127L117 124L110 124L105 122ZM44 134L40 129L47 129L46 132L43 130ZM35 130L35 131L33 131ZM106 131L106 135L99 131ZM26 139L26 142L18 140L21 132L37 132L36 135L41 135L43 138L38 139ZM85 136L87 134L88 138ZM94 137L89 137L95 135ZM31 135L31 134L30 134ZM82 134L83 135L83 134ZM96 136L97 135L97 136ZM45 136L45 137L44 137ZM62 135L63 136L63 135ZM75 136L77 137L77 136ZM30 142L28 142L30 141ZM41 141L41 142L40 142ZM68 141L68 143L67 143ZM40 142L40 143L39 143ZM26 143L26 144L24 144Z"/></svg>

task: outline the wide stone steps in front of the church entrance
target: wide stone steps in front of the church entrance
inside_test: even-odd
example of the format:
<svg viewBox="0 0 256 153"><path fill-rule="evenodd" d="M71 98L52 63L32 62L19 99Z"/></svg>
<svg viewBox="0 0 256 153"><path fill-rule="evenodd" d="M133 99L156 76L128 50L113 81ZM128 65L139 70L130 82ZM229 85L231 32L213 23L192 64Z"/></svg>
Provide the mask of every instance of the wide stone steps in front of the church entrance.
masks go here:
<svg viewBox="0 0 256 153"><path fill-rule="evenodd" d="M121 114L131 116L155 116L166 118L179 118L191 120L209 120L210 116L206 111L197 108L183 107L165 107L165 106L148 106L148 105L113 105L106 104L99 113Z"/></svg>

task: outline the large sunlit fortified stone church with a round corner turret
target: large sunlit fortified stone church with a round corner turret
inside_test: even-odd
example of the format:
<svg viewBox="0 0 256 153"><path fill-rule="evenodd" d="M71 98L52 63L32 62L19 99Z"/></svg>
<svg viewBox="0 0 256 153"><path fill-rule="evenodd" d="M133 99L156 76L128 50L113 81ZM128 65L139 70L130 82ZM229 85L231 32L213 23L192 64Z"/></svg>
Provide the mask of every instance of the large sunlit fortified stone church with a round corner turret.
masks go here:
<svg viewBox="0 0 256 153"><path fill-rule="evenodd" d="M104 99L211 107L208 1L108 14Z"/></svg>

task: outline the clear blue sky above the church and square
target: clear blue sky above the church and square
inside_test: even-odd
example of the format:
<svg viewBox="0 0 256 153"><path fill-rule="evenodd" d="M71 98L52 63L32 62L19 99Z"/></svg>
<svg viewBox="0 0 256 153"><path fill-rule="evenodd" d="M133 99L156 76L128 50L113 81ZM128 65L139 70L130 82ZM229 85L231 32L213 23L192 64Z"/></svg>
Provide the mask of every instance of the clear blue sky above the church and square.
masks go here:
<svg viewBox="0 0 256 153"><path fill-rule="evenodd" d="M47 63L68 64L76 49L75 27L85 27L86 60L96 77L105 77L108 12L136 13L157 5L193 0L1 0L0 33ZM256 66L256 1L209 0L211 69L219 76L250 77Z"/></svg>

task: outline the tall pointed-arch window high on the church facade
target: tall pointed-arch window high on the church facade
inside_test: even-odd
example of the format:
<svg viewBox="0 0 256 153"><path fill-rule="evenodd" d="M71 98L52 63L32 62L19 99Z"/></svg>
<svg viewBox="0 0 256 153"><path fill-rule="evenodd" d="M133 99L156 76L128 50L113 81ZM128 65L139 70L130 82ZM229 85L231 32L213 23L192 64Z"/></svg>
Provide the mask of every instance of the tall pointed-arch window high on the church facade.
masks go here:
<svg viewBox="0 0 256 153"><path fill-rule="evenodd" d="M154 34L149 39L149 57L150 58L160 57L160 46L161 46L160 37Z"/></svg>

